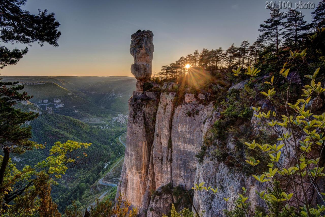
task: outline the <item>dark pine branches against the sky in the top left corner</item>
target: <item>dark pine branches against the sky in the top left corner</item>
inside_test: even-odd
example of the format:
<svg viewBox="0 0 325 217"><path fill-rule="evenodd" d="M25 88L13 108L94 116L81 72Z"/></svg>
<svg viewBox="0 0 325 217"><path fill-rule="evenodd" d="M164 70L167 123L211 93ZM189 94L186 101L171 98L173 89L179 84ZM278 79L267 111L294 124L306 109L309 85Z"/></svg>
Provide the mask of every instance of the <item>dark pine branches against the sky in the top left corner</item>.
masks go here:
<svg viewBox="0 0 325 217"><path fill-rule="evenodd" d="M45 42L58 47L61 32L60 23L55 20L54 13L47 14L47 10L39 10L38 15L30 14L20 7L27 0L0 1L0 39L3 43L24 43L31 45L36 42L43 46ZM37 30L37 31L36 31ZM17 62L28 52L28 48L9 50L0 46L0 69Z"/></svg>

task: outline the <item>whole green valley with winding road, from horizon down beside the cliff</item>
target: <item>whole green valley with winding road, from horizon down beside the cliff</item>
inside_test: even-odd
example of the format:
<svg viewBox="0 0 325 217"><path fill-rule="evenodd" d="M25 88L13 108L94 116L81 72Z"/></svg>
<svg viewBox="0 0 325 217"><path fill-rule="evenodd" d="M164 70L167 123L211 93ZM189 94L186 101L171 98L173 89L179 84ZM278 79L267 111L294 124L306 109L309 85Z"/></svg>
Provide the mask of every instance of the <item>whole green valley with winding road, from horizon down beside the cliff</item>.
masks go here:
<svg viewBox="0 0 325 217"><path fill-rule="evenodd" d="M39 114L27 123L32 127L32 141L45 144L46 148L57 141L92 143L85 150L85 167L68 170L59 185L52 187L59 211L70 209L73 201L82 211L94 205L96 198L113 200L124 159L127 101L135 79L4 76L3 80L19 81L23 90L33 95L31 100L16 105L23 111ZM44 150L35 149L12 159L21 169L46 157Z"/></svg>

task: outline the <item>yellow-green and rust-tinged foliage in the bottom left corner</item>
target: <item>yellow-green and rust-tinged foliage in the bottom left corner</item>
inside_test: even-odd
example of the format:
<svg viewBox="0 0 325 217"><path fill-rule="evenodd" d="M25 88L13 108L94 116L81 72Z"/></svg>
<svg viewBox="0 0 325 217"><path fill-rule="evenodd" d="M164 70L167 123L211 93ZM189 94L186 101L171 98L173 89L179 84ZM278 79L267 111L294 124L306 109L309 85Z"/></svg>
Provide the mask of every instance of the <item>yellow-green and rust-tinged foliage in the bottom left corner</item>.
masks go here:
<svg viewBox="0 0 325 217"><path fill-rule="evenodd" d="M0 188L2 204L0 213L5 216L60 216L57 205L52 201L51 185L69 168L81 167L87 154L83 148L91 143L68 140L56 142L49 150L49 157L35 166L16 168L11 159L5 171L4 182ZM42 144L34 148L44 149ZM3 156L0 156L2 161Z"/></svg>

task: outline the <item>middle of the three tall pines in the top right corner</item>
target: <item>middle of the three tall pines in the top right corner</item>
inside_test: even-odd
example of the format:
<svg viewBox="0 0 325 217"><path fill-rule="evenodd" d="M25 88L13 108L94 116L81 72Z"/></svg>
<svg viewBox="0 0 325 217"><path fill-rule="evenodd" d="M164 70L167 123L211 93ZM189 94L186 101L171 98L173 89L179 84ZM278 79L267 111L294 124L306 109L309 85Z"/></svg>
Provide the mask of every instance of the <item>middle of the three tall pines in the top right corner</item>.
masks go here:
<svg viewBox="0 0 325 217"><path fill-rule="evenodd" d="M287 45L294 44L297 48L297 43L301 41L302 34L309 29L307 21L304 20L305 15L297 10L290 10L287 22L285 23L285 34L284 38Z"/></svg>

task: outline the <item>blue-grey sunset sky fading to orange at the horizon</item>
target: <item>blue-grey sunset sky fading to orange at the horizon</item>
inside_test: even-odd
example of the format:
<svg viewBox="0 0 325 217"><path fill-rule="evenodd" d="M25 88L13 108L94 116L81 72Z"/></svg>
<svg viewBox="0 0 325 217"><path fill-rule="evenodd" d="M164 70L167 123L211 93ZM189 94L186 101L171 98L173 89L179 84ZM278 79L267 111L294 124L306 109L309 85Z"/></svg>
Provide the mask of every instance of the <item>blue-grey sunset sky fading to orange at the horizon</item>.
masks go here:
<svg viewBox="0 0 325 217"><path fill-rule="evenodd" d="M294 7L297 0L291 1ZM308 2L308 1L302 1ZM319 1L312 1L316 6ZM152 72L195 49L227 49L256 40L259 24L269 17L263 0L29 0L24 9L54 12L61 23L59 47L33 44L17 65L1 75L133 76L131 34L154 34ZM305 20L310 12L302 9ZM7 45L24 48L26 45Z"/></svg>

